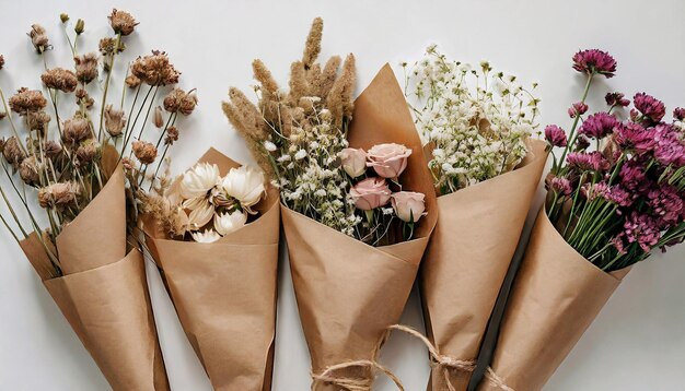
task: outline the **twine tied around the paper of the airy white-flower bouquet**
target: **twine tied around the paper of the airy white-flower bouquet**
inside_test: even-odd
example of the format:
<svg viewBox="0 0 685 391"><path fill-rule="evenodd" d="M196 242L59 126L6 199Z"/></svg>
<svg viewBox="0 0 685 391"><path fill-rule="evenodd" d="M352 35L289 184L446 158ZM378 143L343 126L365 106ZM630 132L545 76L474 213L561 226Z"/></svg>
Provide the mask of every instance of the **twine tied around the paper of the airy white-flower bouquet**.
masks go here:
<svg viewBox="0 0 685 391"><path fill-rule="evenodd" d="M450 370L451 369L456 369L456 370L462 370L462 371L466 371L466 372L473 372L474 369L476 368L476 362L475 360L464 360L464 359L458 359L458 358L454 358L454 357L450 357L450 356L445 356L440 354L440 352L438 352L438 348L436 347L436 345L433 345L430 341L428 341L428 339L426 336L423 336L423 334L421 334L420 332L416 331L413 328L406 327L406 325L402 325L402 324L393 324L390 328L387 328L388 332L392 330L398 330L398 331L403 331L409 335L416 336L417 339L419 339L421 342L423 342L423 345L426 345L426 347L428 348L428 353L430 354L430 367L433 370L441 370L442 375L444 377L444 382L448 386L448 390L449 391L456 391L456 389L454 388L454 386L452 384L452 381L450 380ZM514 391L512 388L508 387L507 384L504 384L504 381L497 376L497 374L495 374L495 371L492 370L492 368L488 368L488 371L486 372L486 378L497 388L501 389L502 391Z"/></svg>

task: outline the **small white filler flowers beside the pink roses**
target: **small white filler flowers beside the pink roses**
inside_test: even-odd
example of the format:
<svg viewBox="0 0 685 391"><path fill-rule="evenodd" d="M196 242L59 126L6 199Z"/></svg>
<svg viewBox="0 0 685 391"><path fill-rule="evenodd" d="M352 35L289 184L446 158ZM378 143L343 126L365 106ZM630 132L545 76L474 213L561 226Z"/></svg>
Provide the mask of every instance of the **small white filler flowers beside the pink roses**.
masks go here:
<svg viewBox="0 0 685 391"><path fill-rule="evenodd" d="M313 105L305 123L293 123L290 135L265 142L274 156L282 201L293 211L355 236L361 217L347 197L350 183L338 154L348 146L346 135L332 123L330 114ZM278 147L277 144L280 144ZM280 154L280 155L278 155Z"/></svg>

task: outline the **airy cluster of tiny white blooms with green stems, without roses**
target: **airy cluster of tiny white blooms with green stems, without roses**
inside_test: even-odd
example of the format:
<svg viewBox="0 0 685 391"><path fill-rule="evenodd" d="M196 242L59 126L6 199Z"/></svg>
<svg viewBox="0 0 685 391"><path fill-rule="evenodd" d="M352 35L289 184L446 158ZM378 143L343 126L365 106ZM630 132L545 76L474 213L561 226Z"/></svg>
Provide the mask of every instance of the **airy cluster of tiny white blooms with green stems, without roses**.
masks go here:
<svg viewBox="0 0 685 391"><path fill-rule="evenodd" d="M448 60L434 45L408 72L405 95L423 142L433 147L429 166L441 193L521 163L526 140L538 126L539 99L515 76L494 71L487 61L474 69Z"/></svg>

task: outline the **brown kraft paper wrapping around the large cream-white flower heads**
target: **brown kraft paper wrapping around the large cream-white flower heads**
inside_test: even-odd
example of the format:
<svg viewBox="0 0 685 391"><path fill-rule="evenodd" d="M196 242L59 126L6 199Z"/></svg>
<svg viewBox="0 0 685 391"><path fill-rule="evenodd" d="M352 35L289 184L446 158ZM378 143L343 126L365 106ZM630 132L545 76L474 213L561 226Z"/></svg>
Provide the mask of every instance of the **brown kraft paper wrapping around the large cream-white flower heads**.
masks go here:
<svg viewBox="0 0 685 391"><path fill-rule="evenodd" d="M221 175L239 164L210 149ZM280 214L269 187L259 217L213 244L148 238L183 329L214 390L270 390Z"/></svg>

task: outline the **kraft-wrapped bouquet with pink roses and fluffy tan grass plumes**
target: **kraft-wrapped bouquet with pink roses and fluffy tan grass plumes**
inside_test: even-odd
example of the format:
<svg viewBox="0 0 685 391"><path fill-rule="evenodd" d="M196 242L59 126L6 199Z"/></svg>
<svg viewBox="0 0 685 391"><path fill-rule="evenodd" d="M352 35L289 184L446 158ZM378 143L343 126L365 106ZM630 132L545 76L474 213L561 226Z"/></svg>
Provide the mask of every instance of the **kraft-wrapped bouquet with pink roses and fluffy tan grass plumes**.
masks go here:
<svg viewBox="0 0 685 391"><path fill-rule="evenodd" d="M437 220L434 193L390 67L353 100L355 57L340 73L339 57L322 67L322 31L316 19L289 92L255 60L258 103L231 88L223 109L280 190L313 388L370 388Z"/></svg>

